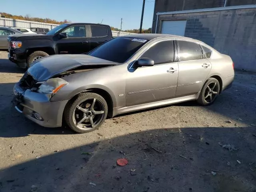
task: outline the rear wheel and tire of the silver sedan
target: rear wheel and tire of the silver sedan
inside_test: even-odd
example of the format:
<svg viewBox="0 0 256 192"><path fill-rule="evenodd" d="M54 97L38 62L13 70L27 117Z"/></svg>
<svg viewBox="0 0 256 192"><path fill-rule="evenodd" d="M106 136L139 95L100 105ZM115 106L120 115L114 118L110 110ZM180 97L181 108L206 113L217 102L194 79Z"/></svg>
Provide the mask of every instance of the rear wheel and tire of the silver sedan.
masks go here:
<svg viewBox="0 0 256 192"><path fill-rule="evenodd" d="M200 92L200 95L196 101L203 106L211 105L216 100L219 93L220 93L220 83L215 78L209 78L205 82Z"/></svg>

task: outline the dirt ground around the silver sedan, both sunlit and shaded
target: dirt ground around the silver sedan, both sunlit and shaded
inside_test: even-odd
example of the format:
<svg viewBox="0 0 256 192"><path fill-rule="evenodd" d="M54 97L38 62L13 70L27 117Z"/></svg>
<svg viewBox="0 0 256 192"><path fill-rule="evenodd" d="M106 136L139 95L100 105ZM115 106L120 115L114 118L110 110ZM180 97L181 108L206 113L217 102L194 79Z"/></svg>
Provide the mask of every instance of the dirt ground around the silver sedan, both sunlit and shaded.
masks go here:
<svg viewBox="0 0 256 192"><path fill-rule="evenodd" d="M256 74L236 72L212 106L124 114L74 134L12 108L23 72L0 51L0 192L256 192Z"/></svg>

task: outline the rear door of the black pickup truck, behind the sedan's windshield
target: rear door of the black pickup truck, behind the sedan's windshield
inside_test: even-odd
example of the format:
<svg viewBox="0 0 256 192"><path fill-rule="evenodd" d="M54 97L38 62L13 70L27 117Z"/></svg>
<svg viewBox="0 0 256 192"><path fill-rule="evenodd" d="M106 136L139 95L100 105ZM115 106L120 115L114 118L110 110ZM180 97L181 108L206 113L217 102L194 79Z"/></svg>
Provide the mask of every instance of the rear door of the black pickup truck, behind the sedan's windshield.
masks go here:
<svg viewBox="0 0 256 192"><path fill-rule="evenodd" d="M106 26L91 25L92 37L90 39L90 49L94 49L102 43L108 41L108 29Z"/></svg>

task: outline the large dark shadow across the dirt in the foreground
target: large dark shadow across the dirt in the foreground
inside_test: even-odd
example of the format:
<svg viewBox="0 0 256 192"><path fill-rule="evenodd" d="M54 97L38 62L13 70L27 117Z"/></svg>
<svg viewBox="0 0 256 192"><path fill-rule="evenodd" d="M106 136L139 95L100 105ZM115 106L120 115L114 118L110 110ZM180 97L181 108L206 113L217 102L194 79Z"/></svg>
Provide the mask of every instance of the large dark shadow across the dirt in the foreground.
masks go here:
<svg viewBox="0 0 256 192"><path fill-rule="evenodd" d="M102 140L1 170L0 191L255 192L251 132L254 128L172 128ZM116 166L123 157L129 164Z"/></svg>

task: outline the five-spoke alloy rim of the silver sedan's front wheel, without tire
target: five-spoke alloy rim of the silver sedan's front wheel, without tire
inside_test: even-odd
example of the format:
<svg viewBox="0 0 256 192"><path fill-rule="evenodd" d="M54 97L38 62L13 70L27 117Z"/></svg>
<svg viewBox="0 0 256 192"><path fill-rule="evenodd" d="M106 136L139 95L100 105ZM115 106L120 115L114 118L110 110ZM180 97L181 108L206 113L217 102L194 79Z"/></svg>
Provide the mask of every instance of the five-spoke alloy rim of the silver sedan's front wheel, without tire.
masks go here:
<svg viewBox="0 0 256 192"><path fill-rule="evenodd" d="M73 122L81 130L90 130L98 126L105 115L105 107L97 98L87 98L77 104L73 111Z"/></svg>

